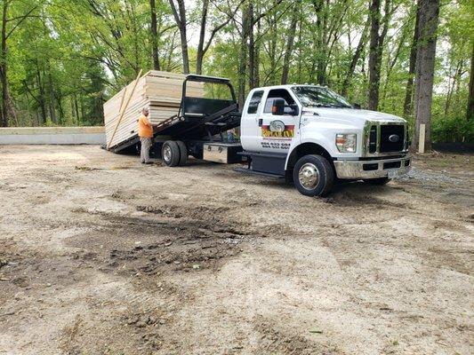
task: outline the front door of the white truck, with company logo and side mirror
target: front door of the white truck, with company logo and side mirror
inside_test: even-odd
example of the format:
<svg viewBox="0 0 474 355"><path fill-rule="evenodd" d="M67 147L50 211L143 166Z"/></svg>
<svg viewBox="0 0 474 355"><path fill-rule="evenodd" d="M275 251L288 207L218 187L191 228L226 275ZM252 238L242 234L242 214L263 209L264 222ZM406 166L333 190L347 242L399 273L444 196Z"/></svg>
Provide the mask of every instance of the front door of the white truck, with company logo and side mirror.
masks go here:
<svg viewBox="0 0 474 355"><path fill-rule="evenodd" d="M284 114L273 114L272 106L275 99L285 100ZM259 115L260 150L277 154L288 153L293 139L296 137L299 124L299 110L295 99L283 88L270 89L265 97L263 110ZM291 107L293 106L293 107Z"/></svg>

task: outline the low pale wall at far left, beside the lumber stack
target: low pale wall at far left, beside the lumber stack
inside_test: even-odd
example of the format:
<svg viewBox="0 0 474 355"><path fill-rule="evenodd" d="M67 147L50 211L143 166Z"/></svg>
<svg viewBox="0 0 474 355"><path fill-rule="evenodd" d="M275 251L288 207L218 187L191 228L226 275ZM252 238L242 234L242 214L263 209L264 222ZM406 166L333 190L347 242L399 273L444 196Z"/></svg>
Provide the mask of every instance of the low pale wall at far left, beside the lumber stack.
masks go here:
<svg viewBox="0 0 474 355"><path fill-rule="evenodd" d="M55 144L105 144L105 129L103 126L0 128L0 145Z"/></svg>

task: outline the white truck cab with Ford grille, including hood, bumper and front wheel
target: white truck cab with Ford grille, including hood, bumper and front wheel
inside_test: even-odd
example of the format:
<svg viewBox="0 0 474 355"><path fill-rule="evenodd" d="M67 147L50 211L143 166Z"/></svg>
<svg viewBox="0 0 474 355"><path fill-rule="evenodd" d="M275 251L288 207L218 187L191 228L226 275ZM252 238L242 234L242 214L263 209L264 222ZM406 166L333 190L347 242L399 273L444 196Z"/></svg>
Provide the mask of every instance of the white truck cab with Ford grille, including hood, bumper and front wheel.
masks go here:
<svg viewBox="0 0 474 355"><path fill-rule="evenodd" d="M240 130L250 171L286 177L309 196L325 195L336 178L382 185L410 170L406 120L323 86L253 89Z"/></svg>

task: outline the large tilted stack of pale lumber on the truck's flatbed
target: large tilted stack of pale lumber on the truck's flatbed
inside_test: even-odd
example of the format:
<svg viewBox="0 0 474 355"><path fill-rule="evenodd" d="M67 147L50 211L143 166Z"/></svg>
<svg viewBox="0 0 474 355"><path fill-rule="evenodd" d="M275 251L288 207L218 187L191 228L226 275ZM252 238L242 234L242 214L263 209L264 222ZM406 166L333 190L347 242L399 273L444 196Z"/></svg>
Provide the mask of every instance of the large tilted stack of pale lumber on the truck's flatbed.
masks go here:
<svg viewBox="0 0 474 355"><path fill-rule="evenodd" d="M138 134L138 119L145 106L149 107L149 120L153 124L178 114L185 78L182 74L151 70L109 99L104 104L107 148ZM204 84L189 82L186 92L188 96L202 98Z"/></svg>

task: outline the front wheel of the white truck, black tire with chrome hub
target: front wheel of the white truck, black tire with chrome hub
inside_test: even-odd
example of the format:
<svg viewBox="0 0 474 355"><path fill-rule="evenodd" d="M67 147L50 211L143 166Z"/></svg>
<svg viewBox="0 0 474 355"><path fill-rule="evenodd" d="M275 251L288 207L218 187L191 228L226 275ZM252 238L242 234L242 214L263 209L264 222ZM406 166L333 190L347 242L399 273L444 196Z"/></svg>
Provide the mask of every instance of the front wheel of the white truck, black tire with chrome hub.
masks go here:
<svg viewBox="0 0 474 355"><path fill-rule="evenodd" d="M333 187L333 167L321 155L305 155L294 165L293 181L306 196L325 196Z"/></svg>

